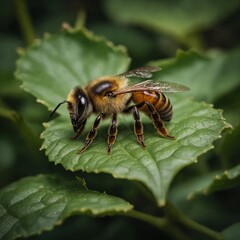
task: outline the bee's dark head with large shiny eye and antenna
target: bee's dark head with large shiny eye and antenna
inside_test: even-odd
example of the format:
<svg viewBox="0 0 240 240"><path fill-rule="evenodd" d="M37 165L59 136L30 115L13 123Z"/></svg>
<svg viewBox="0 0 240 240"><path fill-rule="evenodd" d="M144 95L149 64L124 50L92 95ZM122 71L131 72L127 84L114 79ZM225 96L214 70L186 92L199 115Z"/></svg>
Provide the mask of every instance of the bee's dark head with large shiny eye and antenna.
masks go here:
<svg viewBox="0 0 240 240"><path fill-rule="evenodd" d="M68 94L67 100L60 102L51 112L50 117L63 104L67 103L67 109L70 114L73 130L75 132L84 124L88 117L89 100L86 93L80 87L75 87Z"/></svg>

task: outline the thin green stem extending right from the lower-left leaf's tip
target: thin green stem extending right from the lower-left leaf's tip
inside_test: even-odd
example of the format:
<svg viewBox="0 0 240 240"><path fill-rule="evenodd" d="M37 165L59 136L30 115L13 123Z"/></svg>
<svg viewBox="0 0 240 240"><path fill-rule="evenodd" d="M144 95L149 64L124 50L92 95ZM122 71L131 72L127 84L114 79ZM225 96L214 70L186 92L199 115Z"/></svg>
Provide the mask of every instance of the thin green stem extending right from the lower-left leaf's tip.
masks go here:
<svg viewBox="0 0 240 240"><path fill-rule="evenodd" d="M178 228L178 226L168 222L166 218L155 217L155 216L152 216L143 212L139 212L136 210L129 211L124 215L146 222L158 228L165 234L171 236L173 239L189 240L189 237L180 228Z"/></svg>

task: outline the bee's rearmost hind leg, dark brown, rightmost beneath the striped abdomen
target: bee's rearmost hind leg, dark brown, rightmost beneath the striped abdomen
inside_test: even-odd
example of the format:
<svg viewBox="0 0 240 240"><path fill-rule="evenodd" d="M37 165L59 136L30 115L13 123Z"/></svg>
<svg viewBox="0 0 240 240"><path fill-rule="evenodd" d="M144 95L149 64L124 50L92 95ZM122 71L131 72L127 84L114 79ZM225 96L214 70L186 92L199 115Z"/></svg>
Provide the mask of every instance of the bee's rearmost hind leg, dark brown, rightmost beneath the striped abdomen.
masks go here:
<svg viewBox="0 0 240 240"><path fill-rule="evenodd" d="M172 137L168 134L167 128L164 126L164 123L163 123L159 113L156 111L155 107L149 102L145 102L145 104L148 107L148 110L150 112L150 117L153 121L154 127L156 128L157 132L163 137L175 139L174 137Z"/></svg>

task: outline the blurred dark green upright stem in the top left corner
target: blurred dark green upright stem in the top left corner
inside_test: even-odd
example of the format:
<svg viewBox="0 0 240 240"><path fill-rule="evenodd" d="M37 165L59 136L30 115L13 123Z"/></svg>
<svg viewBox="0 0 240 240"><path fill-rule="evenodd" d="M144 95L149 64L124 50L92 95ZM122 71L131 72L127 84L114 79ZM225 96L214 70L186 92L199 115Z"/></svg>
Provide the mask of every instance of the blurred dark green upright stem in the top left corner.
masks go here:
<svg viewBox="0 0 240 240"><path fill-rule="evenodd" d="M27 10L26 0L14 0L16 15L18 22L27 45L30 45L34 38L35 34L33 31L32 21Z"/></svg>

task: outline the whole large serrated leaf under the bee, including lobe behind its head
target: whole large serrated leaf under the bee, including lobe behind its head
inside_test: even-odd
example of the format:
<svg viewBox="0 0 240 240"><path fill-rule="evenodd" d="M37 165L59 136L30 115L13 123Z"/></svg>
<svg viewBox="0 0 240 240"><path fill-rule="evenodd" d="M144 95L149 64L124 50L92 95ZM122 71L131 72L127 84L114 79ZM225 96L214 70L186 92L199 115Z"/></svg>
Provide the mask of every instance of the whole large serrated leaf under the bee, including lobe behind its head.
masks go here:
<svg viewBox="0 0 240 240"><path fill-rule="evenodd" d="M98 76L124 71L128 62L122 48L86 31L64 32L29 48L18 61L16 76L40 102L53 108L75 85L84 86ZM89 118L81 141L70 141L72 126L67 109L62 107L62 116L46 124L42 149L46 149L50 161L71 171L105 172L116 178L138 180L150 189L159 205L164 205L173 177L213 148L212 142L229 127L221 112L210 105L195 102L185 94L173 95L171 100L174 118L167 127L176 141L161 138L142 114L147 144L142 150L133 133L131 115L119 115L118 139L110 156L106 154L109 120L99 127L92 146L77 154L94 116Z"/></svg>

